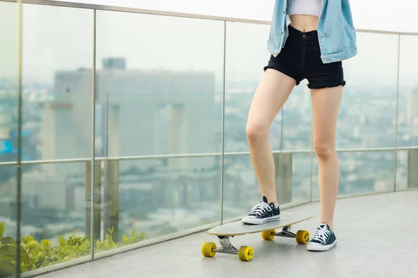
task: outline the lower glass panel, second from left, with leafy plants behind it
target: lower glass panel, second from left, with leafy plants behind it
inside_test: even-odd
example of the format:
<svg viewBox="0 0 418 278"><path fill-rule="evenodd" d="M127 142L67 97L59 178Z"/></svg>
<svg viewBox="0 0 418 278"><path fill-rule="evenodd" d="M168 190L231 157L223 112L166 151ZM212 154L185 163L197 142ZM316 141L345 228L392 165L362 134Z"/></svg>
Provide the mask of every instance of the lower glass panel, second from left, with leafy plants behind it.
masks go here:
<svg viewBox="0 0 418 278"><path fill-rule="evenodd" d="M89 161L22 167L22 246L29 254L29 261L22 262L23 272L90 256L88 165Z"/></svg>

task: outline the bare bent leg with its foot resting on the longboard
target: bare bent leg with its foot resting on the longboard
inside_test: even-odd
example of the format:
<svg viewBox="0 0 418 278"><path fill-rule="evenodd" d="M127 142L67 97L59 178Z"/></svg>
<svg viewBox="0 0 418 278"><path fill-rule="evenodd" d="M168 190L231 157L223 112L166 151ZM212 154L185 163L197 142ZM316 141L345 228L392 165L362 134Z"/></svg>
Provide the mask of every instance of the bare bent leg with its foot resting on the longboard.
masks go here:
<svg viewBox="0 0 418 278"><path fill-rule="evenodd" d="M266 70L252 100L247 120L249 153L261 193L276 206L274 161L268 136L274 117L291 95L295 84L295 79L277 70Z"/></svg>

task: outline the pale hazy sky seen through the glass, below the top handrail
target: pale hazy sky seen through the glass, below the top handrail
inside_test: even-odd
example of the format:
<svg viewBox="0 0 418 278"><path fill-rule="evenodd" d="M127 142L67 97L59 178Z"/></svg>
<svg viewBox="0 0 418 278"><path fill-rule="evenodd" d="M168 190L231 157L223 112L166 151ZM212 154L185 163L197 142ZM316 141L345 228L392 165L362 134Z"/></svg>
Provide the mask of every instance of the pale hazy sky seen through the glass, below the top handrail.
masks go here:
<svg viewBox="0 0 418 278"><path fill-rule="evenodd" d="M0 53L0 59L5 66L0 67L0 76L14 76L17 58L6 54L17 55L17 28L13 24L15 6L5 2L0 5L5 10L2 18L5 24L0 24L5 50ZM23 12L24 82L52 84L54 72L58 70L91 68L91 10L25 4ZM77 17L76 24L61 20L71 17ZM223 76L223 27L222 22L210 20L98 11L96 55L98 61L104 57L123 56L129 61L127 68L132 70L210 70L219 80ZM269 28L258 24L227 24L226 79L230 76L242 81L261 78L269 58L265 47ZM385 81L396 78L398 36L357 33L357 37L359 53L343 62L345 68L352 69L349 71L351 79L361 79L365 74ZM170 47L161 43L161 38L170 42ZM417 47L418 36L401 37L401 79L414 77ZM247 54L249 49L254 49L251 56ZM385 61L384 67L382 61Z"/></svg>

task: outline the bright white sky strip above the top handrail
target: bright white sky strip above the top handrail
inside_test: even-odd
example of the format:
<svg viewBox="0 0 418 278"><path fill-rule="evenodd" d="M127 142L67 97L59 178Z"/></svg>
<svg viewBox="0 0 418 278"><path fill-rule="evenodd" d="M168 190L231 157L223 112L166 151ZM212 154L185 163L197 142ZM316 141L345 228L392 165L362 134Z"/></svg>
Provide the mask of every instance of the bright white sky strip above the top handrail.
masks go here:
<svg viewBox="0 0 418 278"><path fill-rule="evenodd" d="M261 20L271 19L274 5L274 0L70 0L70 2ZM356 28L418 32L417 0L350 0L350 4Z"/></svg>

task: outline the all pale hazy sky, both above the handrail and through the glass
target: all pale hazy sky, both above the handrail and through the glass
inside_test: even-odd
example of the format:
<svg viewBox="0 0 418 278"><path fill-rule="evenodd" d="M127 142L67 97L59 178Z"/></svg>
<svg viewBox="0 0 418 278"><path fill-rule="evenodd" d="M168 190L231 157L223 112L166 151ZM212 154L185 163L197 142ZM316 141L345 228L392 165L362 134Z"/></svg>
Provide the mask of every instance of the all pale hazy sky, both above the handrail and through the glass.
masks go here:
<svg viewBox="0 0 418 278"><path fill-rule="evenodd" d="M83 1L83 0L77 0ZM85 1L85 0L84 0ZM113 6L170 10L184 13L270 20L274 0L88 0ZM414 2L414 3L413 3ZM196 3L199 3L197 5ZM351 0L356 28L418 33L417 0ZM380 6L378 6L378 3ZM385 3L382 5L382 3ZM396 4L395 4L396 3ZM15 3L0 1L0 76L17 71ZM57 70L91 68L93 14L91 10L24 5L24 81L52 83ZM104 57L127 59L130 69L210 70L222 78L222 22L98 12L98 67ZM227 25L226 76L257 80L268 61L268 25ZM345 63L348 76L396 81L396 35L358 33L359 54ZM418 36L401 40L401 77L412 76L418 63Z"/></svg>

